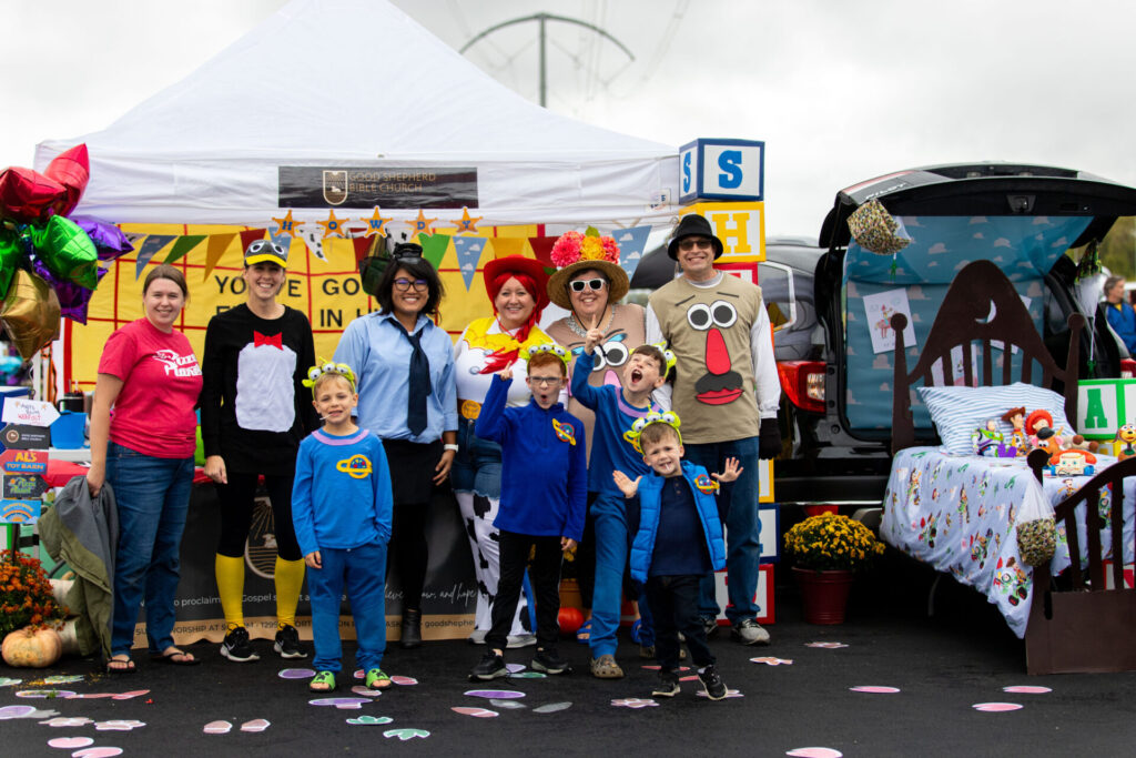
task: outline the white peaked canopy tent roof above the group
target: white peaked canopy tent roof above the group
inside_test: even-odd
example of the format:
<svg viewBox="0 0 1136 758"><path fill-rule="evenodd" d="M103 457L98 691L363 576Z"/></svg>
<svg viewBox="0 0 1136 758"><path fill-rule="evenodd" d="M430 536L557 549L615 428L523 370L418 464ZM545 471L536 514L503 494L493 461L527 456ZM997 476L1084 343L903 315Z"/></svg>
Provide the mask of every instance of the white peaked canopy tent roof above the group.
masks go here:
<svg viewBox="0 0 1136 758"><path fill-rule="evenodd" d="M675 148L525 100L385 0L294 0L108 128L42 142L35 167L80 142L77 213L132 223L265 225L281 166L473 167L484 225L663 222L678 181Z"/></svg>

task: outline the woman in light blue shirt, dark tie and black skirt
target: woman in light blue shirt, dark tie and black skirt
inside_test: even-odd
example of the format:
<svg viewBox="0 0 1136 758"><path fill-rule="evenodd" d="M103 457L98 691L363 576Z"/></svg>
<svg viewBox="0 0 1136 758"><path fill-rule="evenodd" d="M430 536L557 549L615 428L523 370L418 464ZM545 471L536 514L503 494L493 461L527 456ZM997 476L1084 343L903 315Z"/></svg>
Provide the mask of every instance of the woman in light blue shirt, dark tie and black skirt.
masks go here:
<svg viewBox="0 0 1136 758"><path fill-rule="evenodd" d="M383 440L394 490L391 555L402 581L403 648L421 644L426 517L458 450L453 342L434 324L444 292L421 248L400 243L379 281L381 310L351 322L335 361L356 372L359 426Z"/></svg>

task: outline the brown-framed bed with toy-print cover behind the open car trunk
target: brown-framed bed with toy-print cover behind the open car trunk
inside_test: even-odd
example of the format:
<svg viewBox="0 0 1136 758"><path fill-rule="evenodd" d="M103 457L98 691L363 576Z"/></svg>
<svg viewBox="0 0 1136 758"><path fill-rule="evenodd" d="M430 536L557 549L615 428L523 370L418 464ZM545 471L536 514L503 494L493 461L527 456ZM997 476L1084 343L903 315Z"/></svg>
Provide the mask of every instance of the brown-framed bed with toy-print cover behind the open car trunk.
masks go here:
<svg viewBox="0 0 1136 758"><path fill-rule="evenodd" d="M1130 643L1136 590L1126 589L1122 576L1136 551L1136 486L1124 488L1124 477L1136 476L1136 459L1117 464L1101 456L1095 476L1052 476L1043 475L1050 458L1044 452L1028 459L967 455L970 432L994 410L1046 408L1054 427L1071 431L1067 419L1077 418L1084 317L1069 318L1062 368L1011 282L996 265L980 260L954 280L911 370L908 319L900 313L891 324L894 459L880 536L985 594L1026 640L1030 673L1136 669ZM920 386L929 389L920 393ZM922 400L939 447L914 447L912 405ZM1033 568L1019 553L1017 518L1051 509L1058 519L1056 550L1046 565ZM1094 517L1086 520L1087 513ZM1080 559L1070 561L1070 556ZM1105 561L1111 561L1108 577ZM1105 589L1106 578L1120 589Z"/></svg>

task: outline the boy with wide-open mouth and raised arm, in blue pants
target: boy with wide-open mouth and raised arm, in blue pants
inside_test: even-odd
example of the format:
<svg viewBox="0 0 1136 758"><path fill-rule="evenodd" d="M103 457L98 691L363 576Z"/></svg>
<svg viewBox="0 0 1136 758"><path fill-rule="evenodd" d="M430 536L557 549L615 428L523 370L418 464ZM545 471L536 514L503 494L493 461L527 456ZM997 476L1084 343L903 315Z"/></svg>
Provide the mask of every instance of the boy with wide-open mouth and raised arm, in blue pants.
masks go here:
<svg viewBox="0 0 1136 758"><path fill-rule="evenodd" d="M624 495L611 480L611 472L619 469L630 476L651 469L642 456L627 441L625 432L640 418L659 408L651 402L651 393L667 381L667 357L659 348L644 344L635 349L623 369L621 386L592 386L596 345L604 339L603 331L593 326L585 336L584 350L576 359L571 392L585 408L595 411L595 431L592 434L592 458L588 464L588 491L595 492L588 514L595 530L595 589L592 593L592 650L591 669L596 678L620 678L623 668L616 663L616 631L619 628L619 607L624 569L627 565L628 522ZM649 632L644 650L652 645L650 609L638 598L643 625ZM653 655L648 653L651 657Z"/></svg>

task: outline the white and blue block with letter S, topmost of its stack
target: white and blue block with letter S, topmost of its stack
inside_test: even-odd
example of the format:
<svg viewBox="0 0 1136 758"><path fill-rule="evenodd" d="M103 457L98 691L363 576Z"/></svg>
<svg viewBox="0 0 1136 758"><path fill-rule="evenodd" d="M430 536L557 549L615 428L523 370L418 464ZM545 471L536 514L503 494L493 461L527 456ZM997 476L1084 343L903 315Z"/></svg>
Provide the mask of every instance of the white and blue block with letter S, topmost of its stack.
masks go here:
<svg viewBox="0 0 1136 758"><path fill-rule="evenodd" d="M678 150L678 201L765 200L766 143L698 139Z"/></svg>

